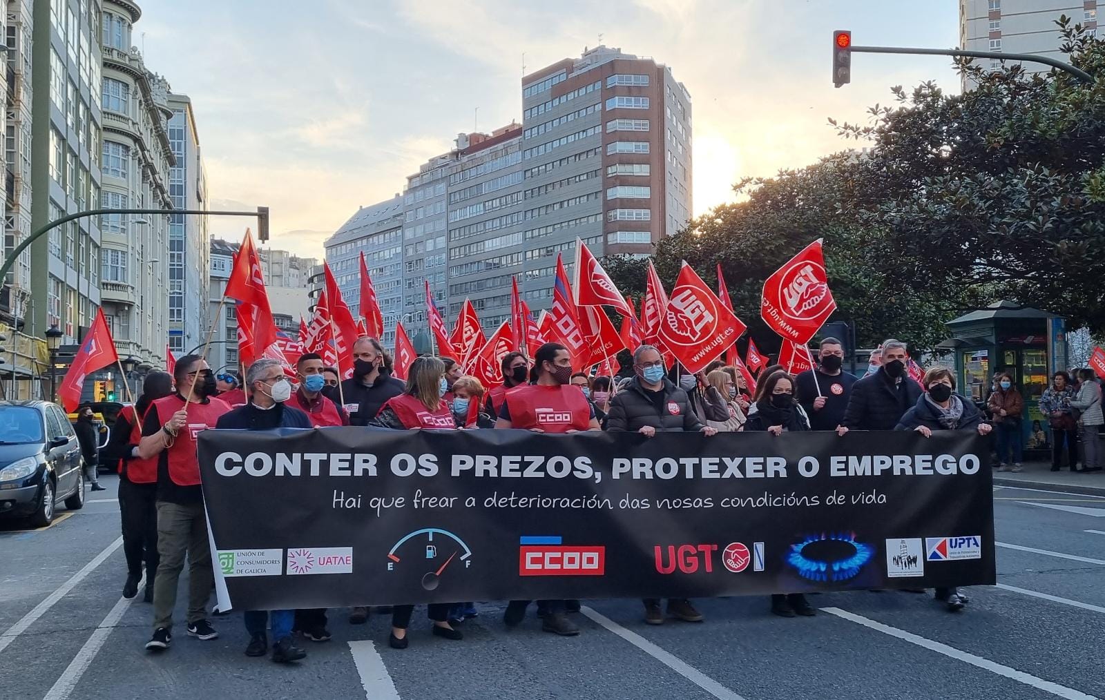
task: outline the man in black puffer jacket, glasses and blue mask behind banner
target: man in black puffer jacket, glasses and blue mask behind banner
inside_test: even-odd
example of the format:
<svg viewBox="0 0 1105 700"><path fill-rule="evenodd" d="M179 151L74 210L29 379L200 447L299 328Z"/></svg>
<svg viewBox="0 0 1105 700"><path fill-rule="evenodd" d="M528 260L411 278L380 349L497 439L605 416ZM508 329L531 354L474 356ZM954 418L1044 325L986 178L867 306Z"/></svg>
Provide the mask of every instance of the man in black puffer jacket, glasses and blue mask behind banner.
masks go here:
<svg viewBox="0 0 1105 700"><path fill-rule="evenodd" d="M717 434L695 416L687 393L664 376L664 359L659 350L652 346L638 348L633 353L633 370L636 376L630 380L629 388L610 400L608 431L633 431L646 437L652 437L656 431ZM688 623L703 621L702 613L686 598L667 598L667 614ZM644 598L644 622L650 625L664 623L660 598Z"/></svg>

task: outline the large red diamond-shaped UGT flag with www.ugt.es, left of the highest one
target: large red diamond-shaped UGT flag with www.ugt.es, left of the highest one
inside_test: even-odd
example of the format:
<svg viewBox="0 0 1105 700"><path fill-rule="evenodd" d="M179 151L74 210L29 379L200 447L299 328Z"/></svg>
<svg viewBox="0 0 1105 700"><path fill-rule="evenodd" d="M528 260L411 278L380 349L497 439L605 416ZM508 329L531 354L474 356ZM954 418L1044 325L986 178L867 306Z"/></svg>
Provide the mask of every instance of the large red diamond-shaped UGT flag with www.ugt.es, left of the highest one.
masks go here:
<svg viewBox="0 0 1105 700"><path fill-rule="evenodd" d="M660 340L692 374L722 357L745 325L711 291L686 262L667 298Z"/></svg>

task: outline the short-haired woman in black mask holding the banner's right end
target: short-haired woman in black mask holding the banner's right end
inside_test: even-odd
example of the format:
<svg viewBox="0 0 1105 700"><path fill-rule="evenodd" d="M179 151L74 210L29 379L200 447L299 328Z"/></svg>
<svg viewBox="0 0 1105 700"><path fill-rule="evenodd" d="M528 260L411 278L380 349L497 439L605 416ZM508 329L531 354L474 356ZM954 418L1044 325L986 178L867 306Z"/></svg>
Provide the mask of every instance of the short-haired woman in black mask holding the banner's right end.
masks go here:
<svg viewBox="0 0 1105 700"><path fill-rule="evenodd" d="M956 376L951 370L934 367L925 372L925 393L917 403L906 411L895 426L898 431L917 431L932 437L934 431L978 431L989 435L992 426L982 422L982 414L975 402L955 393ZM955 586L936 588L936 600L946 603L948 611L956 613L964 608L967 596Z"/></svg>

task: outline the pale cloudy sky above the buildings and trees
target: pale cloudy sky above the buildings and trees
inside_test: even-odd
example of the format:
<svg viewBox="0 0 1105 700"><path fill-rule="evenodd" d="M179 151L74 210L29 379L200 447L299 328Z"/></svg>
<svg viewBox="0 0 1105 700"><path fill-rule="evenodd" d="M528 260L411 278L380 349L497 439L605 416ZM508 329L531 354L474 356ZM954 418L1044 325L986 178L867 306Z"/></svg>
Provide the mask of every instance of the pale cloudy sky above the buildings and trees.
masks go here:
<svg viewBox="0 0 1105 700"><path fill-rule="evenodd" d="M520 76L601 42L672 66L691 92L694 210L850 147L890 86L950 59L856 54L831 81L834 29L856 44L951 47L951 0L139 0L133 42L191 96L212 209L272 210L273 247L322 256L359 205L401 191L474 124L522 119ZM477 118L476 118L477 117ZM236 240L241 220L213 219Z"/></svg>

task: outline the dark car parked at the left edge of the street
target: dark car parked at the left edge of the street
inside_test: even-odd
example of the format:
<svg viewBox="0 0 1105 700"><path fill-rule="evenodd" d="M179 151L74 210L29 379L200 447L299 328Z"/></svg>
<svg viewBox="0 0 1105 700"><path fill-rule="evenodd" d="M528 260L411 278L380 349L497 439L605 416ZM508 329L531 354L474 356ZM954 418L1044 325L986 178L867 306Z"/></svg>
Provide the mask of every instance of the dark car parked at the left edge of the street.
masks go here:
<svg viewBox="0 0 1105 700"><path fill-rule="evenodd" d="M56 404L0 402L0 517L54 520L59 500L84 506L84 459L76 433Z"/></svg>

